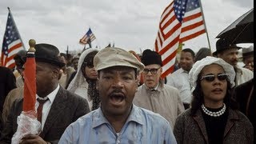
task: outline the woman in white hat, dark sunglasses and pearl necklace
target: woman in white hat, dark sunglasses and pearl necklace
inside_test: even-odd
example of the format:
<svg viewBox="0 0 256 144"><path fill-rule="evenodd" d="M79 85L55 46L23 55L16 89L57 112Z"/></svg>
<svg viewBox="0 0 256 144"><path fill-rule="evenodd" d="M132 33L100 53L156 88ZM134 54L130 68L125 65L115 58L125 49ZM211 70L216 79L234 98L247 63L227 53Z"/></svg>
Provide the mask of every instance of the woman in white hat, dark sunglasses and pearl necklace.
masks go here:
<svg viewBox="0 0 256 144"><path fill-rule="evenodd" d="M253 143L253 126L231 99L233 66L207 56L195 62L189 79L193 99L190 109L174 125L178 143Z"/></svg>

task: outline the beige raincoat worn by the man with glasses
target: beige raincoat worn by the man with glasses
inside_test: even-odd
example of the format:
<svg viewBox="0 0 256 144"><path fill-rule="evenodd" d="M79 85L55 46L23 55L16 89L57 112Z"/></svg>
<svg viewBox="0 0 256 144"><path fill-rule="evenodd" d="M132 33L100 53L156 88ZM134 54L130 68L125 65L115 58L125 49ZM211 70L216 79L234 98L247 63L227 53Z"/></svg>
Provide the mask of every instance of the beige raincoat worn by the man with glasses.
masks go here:
<svg viewBox="0 0 256 144"><path fill-rule="evenodd" d="M178 114L184 111L179 92L173 86L159 85L158 90L150 90L145 84L138 87L134 96L134 105L162 115L173 129Z"/></svg>

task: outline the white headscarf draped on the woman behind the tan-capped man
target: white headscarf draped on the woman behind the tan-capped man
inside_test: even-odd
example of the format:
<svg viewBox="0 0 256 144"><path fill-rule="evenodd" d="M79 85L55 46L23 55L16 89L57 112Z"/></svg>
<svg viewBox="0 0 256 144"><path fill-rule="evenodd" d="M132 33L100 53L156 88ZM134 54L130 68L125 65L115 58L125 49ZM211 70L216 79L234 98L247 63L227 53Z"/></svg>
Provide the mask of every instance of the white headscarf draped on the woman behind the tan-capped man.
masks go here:
<svg viewBox="0 0 256 144"><path fill-rule="evenodd" d="M90 54L93 51L99 51L96 48L89 48L86 49L85 51L82 52L82 54L80 55L79 61L78 61L78 71L77 74L75 74L73 80L70 82L70 85L67 87L67 90L70 90L70 92L73 92L82 84L86 83L86 78L84 78L83 74L82 74L82 63L84 61L84 59L86 58L87 54Z"/></svg>

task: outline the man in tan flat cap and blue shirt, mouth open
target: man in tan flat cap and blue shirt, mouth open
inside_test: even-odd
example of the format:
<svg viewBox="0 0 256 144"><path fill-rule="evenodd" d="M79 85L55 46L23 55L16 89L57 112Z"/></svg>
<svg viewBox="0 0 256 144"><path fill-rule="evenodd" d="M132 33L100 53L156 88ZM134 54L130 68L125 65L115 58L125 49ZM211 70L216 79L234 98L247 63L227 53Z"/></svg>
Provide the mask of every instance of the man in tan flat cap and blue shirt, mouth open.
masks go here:
<svg viewBox="0 0 256 144"><path fill-rule="evenodd" d="M78 118L60 143L176 143L169 122L133 105L144 65L126 50L106 47L94 56L101 106Z"/></svg>

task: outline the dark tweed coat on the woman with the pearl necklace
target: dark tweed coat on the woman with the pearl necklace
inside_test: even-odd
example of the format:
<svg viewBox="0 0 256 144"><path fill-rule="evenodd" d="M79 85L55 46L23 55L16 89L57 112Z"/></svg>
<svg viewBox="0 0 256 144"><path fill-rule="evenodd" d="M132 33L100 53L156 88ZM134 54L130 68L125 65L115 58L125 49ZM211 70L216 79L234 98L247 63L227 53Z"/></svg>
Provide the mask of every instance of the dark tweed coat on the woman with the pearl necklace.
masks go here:
<svg viewBox="0 0 256 144"><path fill-rule="evenodd" d="M194 116L188 109L180 114L174 125L174 136L178 144L208 144L206 125L201 110ZM252 144L254 130L249 119L238 110L229 109L229 115L223 135L223 144Z"/></svg>

